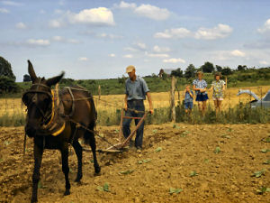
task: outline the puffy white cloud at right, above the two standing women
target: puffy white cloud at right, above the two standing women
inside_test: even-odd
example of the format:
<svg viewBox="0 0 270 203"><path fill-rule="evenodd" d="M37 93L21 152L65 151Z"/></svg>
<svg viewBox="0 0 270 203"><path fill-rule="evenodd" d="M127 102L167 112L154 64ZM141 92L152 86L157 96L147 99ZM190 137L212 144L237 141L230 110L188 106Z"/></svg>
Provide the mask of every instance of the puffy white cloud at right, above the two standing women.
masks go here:
<svg viewBox="0 0 270 203"><path fill-rule="evenodd" d="M231 32L232 28L229 27L229 25L219 23L213 28L199 28L199 30L195 32L194 37L195 39L202 40L216 40L228 37Z"/></svg>

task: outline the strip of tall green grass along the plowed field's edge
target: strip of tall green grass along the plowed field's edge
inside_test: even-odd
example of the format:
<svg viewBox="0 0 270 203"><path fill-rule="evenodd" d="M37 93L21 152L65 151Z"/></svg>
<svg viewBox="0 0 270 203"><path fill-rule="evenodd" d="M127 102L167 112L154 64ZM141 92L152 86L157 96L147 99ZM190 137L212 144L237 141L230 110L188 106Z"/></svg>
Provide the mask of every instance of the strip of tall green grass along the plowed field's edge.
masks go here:
<svg viewBox="0 0 270 203"><path fill-rule="evenodd" d="M184 113L183 104L175 107L175 113L176 122L186 124L266 124L270 122L270 109L261 107L253 109L250 108L248 105L243 106L241 103L238 104L238 106L222 111L218 116L216 116L215 110L211 106L208 106L206 115L204 117L202 117L202 114L197 108L197 106L193 108L192 114L190 116L187 116ZM97 112L97 115L97 125L119 125L121 118L121 109L117 109L115 112L99 110ZM169 107L156 108L154 110L154 115L148 115L146 118L147 125L158 125L168 122L170 122ZM23 113L15 113L11 115L4 114L0 116L0 126L21 125L25 125L25 115L23 115ZM186 134L184 134L183 136L185 136Z"/></svg>

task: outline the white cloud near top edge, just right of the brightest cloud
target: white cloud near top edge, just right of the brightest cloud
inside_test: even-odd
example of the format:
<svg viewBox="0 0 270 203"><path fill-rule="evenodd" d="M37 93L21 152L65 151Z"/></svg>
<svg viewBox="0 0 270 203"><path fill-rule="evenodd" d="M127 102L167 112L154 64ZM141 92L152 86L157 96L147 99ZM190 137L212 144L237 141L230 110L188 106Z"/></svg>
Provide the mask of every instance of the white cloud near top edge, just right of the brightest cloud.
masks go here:
<svg viewBox="0 0 270 203"><path fill-rule="evenodd" d="M139 5L135 8L134 13L156 21L166 20L170 15L166 8L159 8L155 5Z"/></svg>

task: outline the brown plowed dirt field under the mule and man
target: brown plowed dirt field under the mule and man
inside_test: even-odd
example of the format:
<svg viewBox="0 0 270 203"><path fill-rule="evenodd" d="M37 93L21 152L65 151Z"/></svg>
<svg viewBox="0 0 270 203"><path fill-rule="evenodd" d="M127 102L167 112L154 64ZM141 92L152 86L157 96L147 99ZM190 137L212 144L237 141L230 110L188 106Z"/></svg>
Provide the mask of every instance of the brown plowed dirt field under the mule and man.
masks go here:
<svg viewBox="0 0 270 203"><path fill-rule="evenodd" d="M118 126L98 127L112 143L117 143ZM28 139L23 160L23 127L0 128L0 202L30 202L33 168L32 140ZM76 178L76 155L69 155L71 194L64 197L65 180L59 152L46 150L41 166L42 188L39 202L270 202L270 143L262 141L270 125L147 125L144 150L121 154L98 154L102 166L94 176L92 153L84 152L81 184ZM105 148L96 138L98 148ZM220 146L220 153L214 153ZM162 147L161 152L155 152ZM89 149L89 147L87 147ZM151 159L147 163L138 161ZM266 169L264 176L251 177ZM127 175L120 171L134 170ZM191 171L198 176L190 177ZM105 182L110 192L96 188ZM183 189L169 194L170 188Z"/></svg>

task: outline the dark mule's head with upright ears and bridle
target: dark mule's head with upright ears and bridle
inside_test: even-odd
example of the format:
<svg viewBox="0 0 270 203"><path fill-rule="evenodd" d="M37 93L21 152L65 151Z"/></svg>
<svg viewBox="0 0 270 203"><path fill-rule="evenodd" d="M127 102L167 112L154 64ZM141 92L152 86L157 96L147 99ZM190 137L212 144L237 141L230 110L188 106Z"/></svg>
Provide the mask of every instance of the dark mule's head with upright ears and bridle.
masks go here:
<svg viewBox="0 0 270 203"><path fill-rule="evenodd" d="M31 88L23 94L23 104L27 106L27 123L25 132L29 136L34 136L42 125L49 122L52 107L51 86L56 85L64 76L62 72L59 76L45 79L38 78L28 60L28 72L31 77Z"/></svg>

